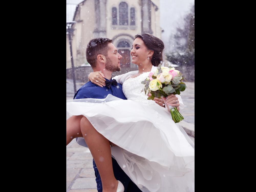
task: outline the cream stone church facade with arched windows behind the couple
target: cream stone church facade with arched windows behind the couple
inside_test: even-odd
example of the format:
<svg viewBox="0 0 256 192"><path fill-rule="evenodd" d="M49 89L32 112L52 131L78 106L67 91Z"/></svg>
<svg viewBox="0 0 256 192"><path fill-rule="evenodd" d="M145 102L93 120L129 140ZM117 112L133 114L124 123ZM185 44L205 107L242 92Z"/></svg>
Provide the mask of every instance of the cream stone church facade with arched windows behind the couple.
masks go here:
<svg viewBox="0 0 256 192"><path fill-rule="evenodd" d="M123 56L122 71L135 70L136 66L131 63L130 55L134 36L148 33L161 39L159 1L85 0L78 4L73 10L73 21L76 22L72 35L74 66L86 66L88 42L93 38L103 37L112 39L114 46ZM68 6L67 4L67 12ZM66 68L69 69L71 60L68 35L66 49Z"/></svg>

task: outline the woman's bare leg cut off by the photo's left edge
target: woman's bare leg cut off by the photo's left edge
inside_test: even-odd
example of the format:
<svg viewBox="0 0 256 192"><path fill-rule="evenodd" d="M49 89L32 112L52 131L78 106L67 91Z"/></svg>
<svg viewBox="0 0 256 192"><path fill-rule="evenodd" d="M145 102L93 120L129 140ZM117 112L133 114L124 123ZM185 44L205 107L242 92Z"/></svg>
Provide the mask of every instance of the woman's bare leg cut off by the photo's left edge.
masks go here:
<svg viewBox="0 0 256 192"><path fill-rule="evenodd" d="M83 115L72 116L66 120L66 146L77 137L83 137L80 129L80 121Z"/></svg>

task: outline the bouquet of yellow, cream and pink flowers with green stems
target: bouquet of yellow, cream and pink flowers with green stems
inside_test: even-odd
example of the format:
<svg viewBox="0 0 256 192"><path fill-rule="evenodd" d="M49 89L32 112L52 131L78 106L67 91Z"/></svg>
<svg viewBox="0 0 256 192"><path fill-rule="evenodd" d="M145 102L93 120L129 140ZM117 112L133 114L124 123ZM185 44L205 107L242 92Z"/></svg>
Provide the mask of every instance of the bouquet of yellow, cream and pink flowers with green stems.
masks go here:
<svg viewBox="0 0 256 192"><path fill-rule="evenodd" d="M145 84L145 94L151 93L151 97L148 100L154 100L154 98L168 97L170 94L180 94L180 92L185 91L187 88L186 84L182 81L184 77L182 77L178 70L172 67L162 67L160 64L157 67L156 72L151 72L142 84ZM175 123L182 121L184 118L179 113L176 107L169 106L170 113L172 114L172 118Z"/></svg>

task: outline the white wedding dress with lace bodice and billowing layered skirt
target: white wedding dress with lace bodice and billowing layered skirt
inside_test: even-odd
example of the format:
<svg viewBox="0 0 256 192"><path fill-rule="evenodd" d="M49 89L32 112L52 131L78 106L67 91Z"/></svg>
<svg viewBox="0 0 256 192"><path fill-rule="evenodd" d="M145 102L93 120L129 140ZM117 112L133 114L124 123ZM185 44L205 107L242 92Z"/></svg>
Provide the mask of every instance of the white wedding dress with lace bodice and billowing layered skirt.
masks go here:
<svg viewBox="0 0 256 192"><path fill-rule="evenodd" d="M167 110L141 92L148 74L123 83L128 100L67 100L67 112L86 116L119 146L111 148L112 156L143 192L195 191L195 145Z"/></svg>

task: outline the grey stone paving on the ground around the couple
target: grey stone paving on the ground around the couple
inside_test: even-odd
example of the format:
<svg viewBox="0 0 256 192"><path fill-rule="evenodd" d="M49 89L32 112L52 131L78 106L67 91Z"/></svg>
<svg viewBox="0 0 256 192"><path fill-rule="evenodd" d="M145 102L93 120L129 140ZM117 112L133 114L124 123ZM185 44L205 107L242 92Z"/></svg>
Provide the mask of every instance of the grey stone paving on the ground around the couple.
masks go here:
<svg viewBox="0 0 256 192"><path fill-rule="evenodd" d="M180 124L195 143L195 83L186 85L188 88L181 94L185 109L182 112L184 120ZM68 86L72 87L67 85L66 100L73 99ZM90 150L78 145L75 139L66 146L66 192L98 192L92 159Z"/></svg>

